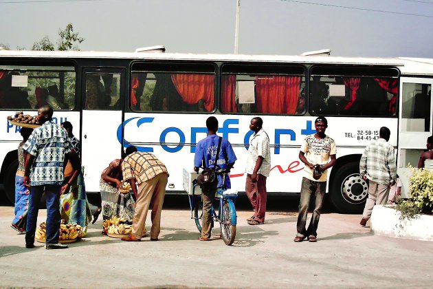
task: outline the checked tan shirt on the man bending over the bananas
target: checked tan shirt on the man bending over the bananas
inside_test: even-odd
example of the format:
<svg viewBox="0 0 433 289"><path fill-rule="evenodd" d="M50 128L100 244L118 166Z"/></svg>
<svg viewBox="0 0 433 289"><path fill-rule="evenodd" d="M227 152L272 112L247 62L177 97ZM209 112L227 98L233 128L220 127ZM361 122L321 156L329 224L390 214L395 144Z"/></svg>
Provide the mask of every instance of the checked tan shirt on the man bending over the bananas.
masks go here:
<svg viewBox="0 0 433 289"><path fill-rule="evenodd" d="M136 151L124 158L122 162L123 180L135 178L137 184L155 178L160 173L168 173L163 164L152 153Z"/></svg>

